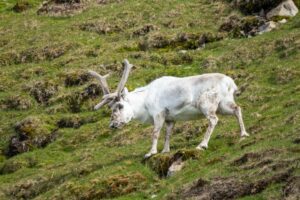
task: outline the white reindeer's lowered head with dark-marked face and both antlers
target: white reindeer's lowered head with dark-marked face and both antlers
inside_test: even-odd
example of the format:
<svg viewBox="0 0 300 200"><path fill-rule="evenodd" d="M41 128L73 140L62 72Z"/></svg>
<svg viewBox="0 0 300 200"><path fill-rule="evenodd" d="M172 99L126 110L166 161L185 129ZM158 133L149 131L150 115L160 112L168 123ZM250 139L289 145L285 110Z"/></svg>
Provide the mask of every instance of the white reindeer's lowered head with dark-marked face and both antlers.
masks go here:
<svg viewBox="0 0 300 200"><path fill-rule="evenodd" d="M108 105L111 110L111 120L110 120L110 128L121 128L123 125L127 124L133 117L133 111L130 104L127 101L128 90L125 88L125 84L128 80L129 72L133 65L131 65L128 60L123 61L124 72L121 78L121 81L117 87L117 90L113 93L110 92L106 78L108 74L105 76L101 76L97 72L89 70L89 73L97 78L100 82L103 97L102 101L97 104L94 109L98 110L104 105Z"/></svg>

